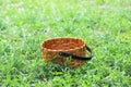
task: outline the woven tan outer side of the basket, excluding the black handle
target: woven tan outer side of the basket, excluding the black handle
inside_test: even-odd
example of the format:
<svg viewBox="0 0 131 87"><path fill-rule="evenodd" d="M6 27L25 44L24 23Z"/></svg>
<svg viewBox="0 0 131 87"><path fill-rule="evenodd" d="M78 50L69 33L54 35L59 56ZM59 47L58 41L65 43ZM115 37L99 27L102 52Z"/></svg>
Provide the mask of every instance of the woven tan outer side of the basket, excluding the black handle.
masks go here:
<svg viewBox="0 0 131 87"><path fill-rule="evenodd" d="M85 57L85 48L78 49L75 51L68 51L68 53ZM41 55L46 62L52 61L53 63L60 64L66 63L68 58L59 55L59 51L48 51L43 49ZM82 66L85 61L72 59L70 62L71 67Z"/></svg>

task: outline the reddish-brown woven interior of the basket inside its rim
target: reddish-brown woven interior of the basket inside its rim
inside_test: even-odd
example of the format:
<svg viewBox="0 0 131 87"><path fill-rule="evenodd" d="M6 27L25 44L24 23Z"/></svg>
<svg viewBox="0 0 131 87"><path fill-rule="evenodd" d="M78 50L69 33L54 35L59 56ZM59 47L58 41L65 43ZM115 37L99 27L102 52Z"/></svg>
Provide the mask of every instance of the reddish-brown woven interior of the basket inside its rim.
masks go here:
<svg viewBox="0 0 131 87"><path fill-rule="evenodd" d="M43 48L50 50L71 50L81 48L84 46L84 41L76 38L57 38L49 39L43 44Z"/></svg>

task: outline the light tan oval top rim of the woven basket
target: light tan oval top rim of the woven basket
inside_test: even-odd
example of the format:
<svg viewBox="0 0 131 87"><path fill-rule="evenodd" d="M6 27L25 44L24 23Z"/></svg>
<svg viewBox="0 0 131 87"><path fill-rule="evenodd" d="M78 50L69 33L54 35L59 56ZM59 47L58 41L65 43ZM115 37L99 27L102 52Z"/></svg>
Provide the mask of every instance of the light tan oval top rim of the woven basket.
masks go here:
<svg viewBox="0 0 131 87"><path fill-rule="evenodd" d="M79 40L81 40L82 42L83 42L83 45L82 46L80 46L80 47L76 47L76 48L73 48L73 49L68 49L68 50L55 50L55 49L48 49L48 48L44 48L43 47L43 45L46 42L46 41L49 41L49 40L55 40L55 39L79 39ZM56 37L56 38L49 38L49 39L46 39L45 41L43 41L41 42L41 45L40 45L40 48L41 49L46 49L46 50L48 50L48 51L53 51L53 52L56 52L56 51L74 51L74 50L78 50L78 49L81 49L81 48L83 48L83 47L85 47L86 45L85 45L85 41L83 40L83 39L81 39L81 38L78 38L78 37Z"/></svg>

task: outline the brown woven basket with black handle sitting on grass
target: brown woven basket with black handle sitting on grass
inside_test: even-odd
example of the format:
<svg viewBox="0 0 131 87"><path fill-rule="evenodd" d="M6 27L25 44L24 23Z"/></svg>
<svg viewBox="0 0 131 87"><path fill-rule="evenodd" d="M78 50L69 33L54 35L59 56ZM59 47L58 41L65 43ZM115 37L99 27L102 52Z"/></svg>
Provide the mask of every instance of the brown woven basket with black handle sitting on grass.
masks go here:
<svg viewBox="0 0 131 87"><path fill-rule="evenodd" d="M86 60L93 58L92 50L79 38L48 39L41 44L40 48L46 62L66 63L70 67L82 66ZM91 53L91 57L86 57L86 50Z"/></svg>

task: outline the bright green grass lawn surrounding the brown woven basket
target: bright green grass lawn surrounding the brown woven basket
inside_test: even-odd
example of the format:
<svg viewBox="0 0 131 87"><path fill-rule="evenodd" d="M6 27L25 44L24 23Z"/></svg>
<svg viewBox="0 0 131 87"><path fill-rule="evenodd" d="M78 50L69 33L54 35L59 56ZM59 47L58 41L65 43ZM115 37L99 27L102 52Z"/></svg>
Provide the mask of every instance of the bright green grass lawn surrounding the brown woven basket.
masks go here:
<svg viewBox="0 0 131 87"><path fill-rule="evenodd" d="M46 64L40 44L79 37L95 57ZM130 87L131 0L0 0L1 87Z"/></svg>

